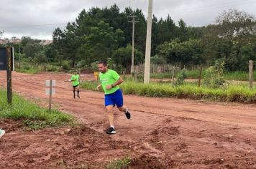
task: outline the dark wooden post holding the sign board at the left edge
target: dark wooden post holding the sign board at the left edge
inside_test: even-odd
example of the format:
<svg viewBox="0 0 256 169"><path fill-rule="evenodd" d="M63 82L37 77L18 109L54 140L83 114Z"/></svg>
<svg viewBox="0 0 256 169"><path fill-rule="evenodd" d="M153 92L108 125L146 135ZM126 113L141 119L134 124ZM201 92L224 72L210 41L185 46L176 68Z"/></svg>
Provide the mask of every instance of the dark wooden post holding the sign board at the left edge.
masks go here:
<svg viewBox="0 0 256 169"><path fill-rule="evenodd" d="M6 47L7 59L7 102L12 104L12 47Z"/></svg>

